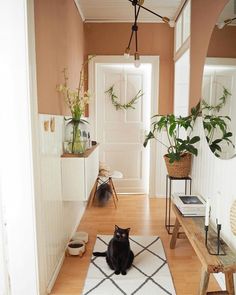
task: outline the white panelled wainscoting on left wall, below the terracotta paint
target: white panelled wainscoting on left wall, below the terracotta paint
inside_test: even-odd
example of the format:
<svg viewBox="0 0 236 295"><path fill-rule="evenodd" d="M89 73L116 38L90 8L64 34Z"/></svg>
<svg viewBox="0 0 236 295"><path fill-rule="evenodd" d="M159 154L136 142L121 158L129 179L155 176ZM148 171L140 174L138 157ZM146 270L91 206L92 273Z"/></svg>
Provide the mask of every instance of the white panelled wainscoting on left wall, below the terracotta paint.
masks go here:
<svg viewBox="0 0 236 295"><path fill-rule="evenodd" d="M55 119L55 131L50 122ZM40 294L51 291L64 259L65 247L83 215L83 202L62 201L61 154L63 117L39 115L41 198L37 202ZM44 123L49 122L49 130ZM46 123L47 124L47 123Z"/></svg>

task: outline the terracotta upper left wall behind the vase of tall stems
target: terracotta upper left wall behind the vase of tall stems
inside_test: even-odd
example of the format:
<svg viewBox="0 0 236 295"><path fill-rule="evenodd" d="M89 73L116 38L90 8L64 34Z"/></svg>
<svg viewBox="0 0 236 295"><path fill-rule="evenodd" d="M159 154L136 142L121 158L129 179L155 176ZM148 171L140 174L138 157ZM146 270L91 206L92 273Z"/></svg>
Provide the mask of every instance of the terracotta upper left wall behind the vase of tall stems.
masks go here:
<svg viewBox="0 0 236 295"><path fill-rule="evenodd" d="M76 87L84 56L84 28L73 0L35 0L36 58L39 113L66 114L56 91L67 67Z"/></svg>

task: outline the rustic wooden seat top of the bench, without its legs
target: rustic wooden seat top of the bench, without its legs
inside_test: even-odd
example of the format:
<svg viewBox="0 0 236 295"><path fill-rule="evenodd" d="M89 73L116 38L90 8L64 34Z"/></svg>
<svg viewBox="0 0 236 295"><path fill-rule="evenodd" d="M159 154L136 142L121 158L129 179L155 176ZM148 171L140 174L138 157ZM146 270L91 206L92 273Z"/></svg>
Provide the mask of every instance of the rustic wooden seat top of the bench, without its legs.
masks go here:
<svg viewBox="0 0 236 295"><path fill-rule="evenodd" d="M221 245L226 254L225 256L210 255L208 253L205 247L204 217L184 217L174 204L172 204L172 209L207 272L236 272L236 254L223 240ZM208 230L208 245L212 251L216 251L216 232L211 226L209 226Z"/></svg>

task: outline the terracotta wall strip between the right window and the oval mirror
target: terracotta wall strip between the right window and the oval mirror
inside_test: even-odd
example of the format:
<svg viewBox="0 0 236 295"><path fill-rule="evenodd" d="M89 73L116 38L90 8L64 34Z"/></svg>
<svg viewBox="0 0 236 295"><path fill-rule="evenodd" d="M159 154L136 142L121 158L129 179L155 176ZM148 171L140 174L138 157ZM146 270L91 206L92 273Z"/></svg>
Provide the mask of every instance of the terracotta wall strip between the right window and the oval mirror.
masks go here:
<svg viewBox="0 0 236 295"><path fill-rule="evenodd" d="M190 108L201 98L202 74L208 43L217 17L228 0L191 1Z"/></svg>

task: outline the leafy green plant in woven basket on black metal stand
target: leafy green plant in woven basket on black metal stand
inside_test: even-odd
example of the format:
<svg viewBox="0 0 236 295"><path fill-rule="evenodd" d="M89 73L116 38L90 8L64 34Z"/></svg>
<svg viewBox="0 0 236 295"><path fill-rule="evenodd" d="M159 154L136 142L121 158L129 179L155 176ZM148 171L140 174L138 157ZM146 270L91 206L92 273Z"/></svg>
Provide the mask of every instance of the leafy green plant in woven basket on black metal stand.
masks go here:
<svg viewBox="0 0 236 295"><path fill-rule="evenodd" d="M166 146L167 154L164 155L168 174L172 177L183 178L189 175L191 169L191 156L197 156L198 150L195 144L200 140L199 136L191 136L194 122L199 114L200 104L192 108L191 114L186 117L170 115L155 115L152 130L146 136L144 147L151 139ZM158 133L166 131L168 144L160 141ZM184 134L184 136L183 136Z"/></svg>

